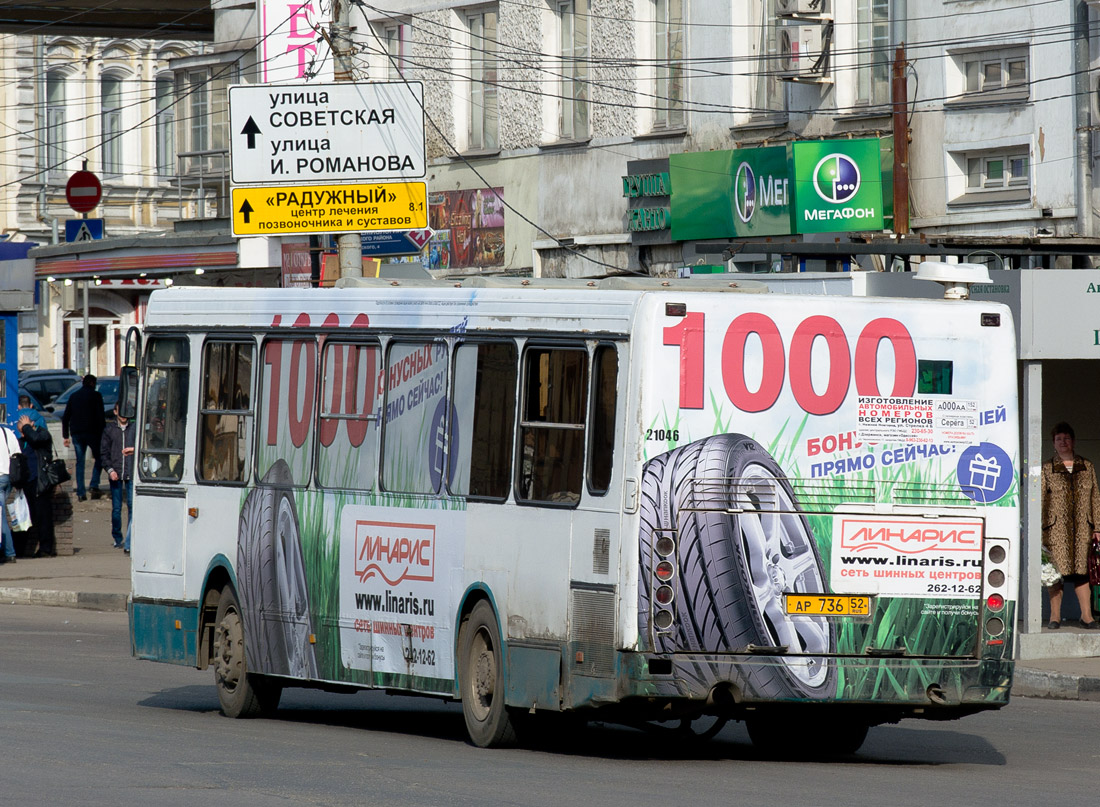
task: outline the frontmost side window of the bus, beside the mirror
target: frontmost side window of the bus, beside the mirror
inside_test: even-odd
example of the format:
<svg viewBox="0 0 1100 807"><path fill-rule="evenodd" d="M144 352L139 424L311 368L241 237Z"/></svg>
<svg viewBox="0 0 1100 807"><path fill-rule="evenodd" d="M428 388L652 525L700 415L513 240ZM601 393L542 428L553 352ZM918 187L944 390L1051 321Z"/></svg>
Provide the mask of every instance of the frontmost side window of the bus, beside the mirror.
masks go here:
<svg viewBox="0 0 1100 807"><path fill-rule="evenodd" d="M144 480L179 482L184 475L187 374L190 347L180 336L156 336L145 352L145 411L138 444Z"/></svg>

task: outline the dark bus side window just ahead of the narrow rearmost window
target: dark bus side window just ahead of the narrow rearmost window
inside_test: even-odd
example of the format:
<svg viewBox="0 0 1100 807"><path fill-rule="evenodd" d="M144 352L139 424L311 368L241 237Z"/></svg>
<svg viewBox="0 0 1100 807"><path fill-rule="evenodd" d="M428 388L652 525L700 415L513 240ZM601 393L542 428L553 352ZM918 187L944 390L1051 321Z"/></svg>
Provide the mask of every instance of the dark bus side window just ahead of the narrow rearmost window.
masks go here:
<svg viewBox="0 0 1100 807"><path fill-rule="evenodd" d="M517 498L575 505L584 477L588 354L537 347L524 356Z"/></svg>

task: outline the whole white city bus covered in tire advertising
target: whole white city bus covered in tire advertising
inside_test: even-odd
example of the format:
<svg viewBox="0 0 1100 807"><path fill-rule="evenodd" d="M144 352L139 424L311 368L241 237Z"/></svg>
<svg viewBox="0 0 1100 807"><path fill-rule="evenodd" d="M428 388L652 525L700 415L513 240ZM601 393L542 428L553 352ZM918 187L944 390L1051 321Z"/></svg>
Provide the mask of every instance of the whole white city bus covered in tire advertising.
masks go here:
<svg viewBox="0 0 1100 807"><path fill-rule="evenodd" d="M568 711L839 752L1003 706L1011 314L762 291L155 291L133 653L212 665L233 717L458 699L485 747Z"/></svg>

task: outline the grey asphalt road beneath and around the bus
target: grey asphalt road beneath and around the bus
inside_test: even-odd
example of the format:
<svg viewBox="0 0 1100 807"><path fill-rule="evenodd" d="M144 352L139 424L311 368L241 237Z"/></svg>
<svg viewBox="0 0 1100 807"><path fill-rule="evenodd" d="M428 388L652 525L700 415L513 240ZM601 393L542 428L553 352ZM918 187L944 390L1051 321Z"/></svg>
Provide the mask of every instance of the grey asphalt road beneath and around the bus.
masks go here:
<svg viewBox="0 0 1100 807"><path fill-rule="evenodd" d="M484 751L458 707L381 693L292 689L276 719L229 720L212 678L131 659L123 613L0 605L0 804L1092 804L1100 764L1100 703L879 727L818 763L763 759L739 725L704 744L596 725Z"/></svg>

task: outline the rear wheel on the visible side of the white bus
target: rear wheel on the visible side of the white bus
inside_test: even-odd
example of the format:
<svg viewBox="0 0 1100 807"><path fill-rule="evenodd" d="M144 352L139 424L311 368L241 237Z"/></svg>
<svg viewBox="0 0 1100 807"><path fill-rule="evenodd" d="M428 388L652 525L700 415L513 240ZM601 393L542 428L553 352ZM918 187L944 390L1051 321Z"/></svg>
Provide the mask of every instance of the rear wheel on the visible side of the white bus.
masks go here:
<svg viewBox="0 0 1100 807"><path fill-rule="evenodd" d="M515 743L513 716L504 705L501 631L485 600L477 603L462 622L459 659L459 693L470 739L481 748Z"/></svg>

